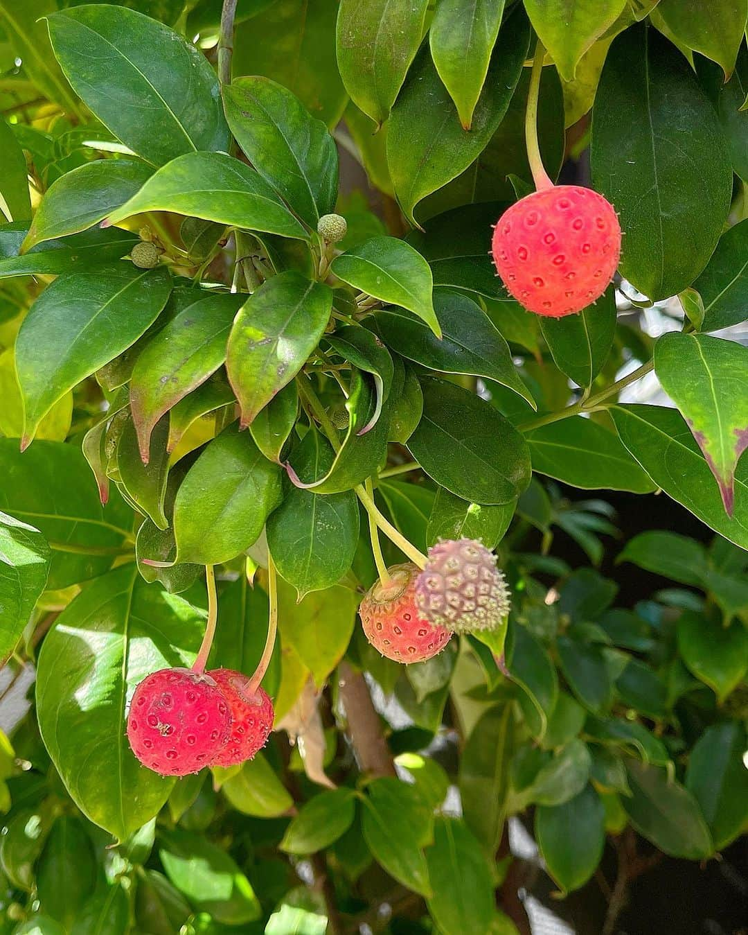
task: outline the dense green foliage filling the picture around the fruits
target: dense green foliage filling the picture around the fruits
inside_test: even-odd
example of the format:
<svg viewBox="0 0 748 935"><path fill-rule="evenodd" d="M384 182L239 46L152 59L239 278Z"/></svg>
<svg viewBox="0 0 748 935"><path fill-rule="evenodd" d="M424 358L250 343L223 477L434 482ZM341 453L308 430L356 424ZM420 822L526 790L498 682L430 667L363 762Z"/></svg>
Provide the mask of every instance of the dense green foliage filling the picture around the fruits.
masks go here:
<svg viewBox="0 0 748 935"><path fill-rule="evenodd" d="M563 895L606 838L704 860L741 834L747 16L0 0L0 657L35 671L0 747L0 930L510 935L511 816ZM557 320L489 256L535 105L552 180L624 234ZM622 400L650 371L670 399ZM617 561L670 582L632 601L598 570L614 511L570 488L716 535L642 509ZM508 620L376 653L361 597L463 536ZM194 662L214 569L210 665L252 675L270 632L275 731L167 779L125 719Z"/></svg>

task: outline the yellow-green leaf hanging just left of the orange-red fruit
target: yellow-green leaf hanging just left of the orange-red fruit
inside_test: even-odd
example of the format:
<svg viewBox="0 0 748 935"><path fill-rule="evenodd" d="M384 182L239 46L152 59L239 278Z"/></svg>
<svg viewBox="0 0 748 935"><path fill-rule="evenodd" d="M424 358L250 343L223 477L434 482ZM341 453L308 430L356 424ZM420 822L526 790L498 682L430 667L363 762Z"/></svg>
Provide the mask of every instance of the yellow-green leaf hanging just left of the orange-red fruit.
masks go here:
<svg viewBox="0 0 748 935"><path fill-rule="evenodd" d="M278 626L284 645L295 650L318 687L346 652L356 624L357 606L354 592L338 584L297 602L292 589L280 583Z"/></svg>

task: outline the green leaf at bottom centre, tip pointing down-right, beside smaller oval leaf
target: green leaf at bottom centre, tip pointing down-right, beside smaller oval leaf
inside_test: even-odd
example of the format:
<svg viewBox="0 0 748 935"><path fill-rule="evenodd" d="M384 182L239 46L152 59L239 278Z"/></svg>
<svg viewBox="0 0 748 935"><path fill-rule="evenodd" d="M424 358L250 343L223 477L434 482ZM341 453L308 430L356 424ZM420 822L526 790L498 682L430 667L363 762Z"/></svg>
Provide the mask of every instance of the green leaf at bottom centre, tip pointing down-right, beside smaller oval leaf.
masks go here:
<svg viewBox="0 0 748 935"><path fill-rule="evenodd" d="M433 816L416 787L386 776L366 792L361 827L372 854L398 883L430 897L423 848L432 839Z"/></svg>

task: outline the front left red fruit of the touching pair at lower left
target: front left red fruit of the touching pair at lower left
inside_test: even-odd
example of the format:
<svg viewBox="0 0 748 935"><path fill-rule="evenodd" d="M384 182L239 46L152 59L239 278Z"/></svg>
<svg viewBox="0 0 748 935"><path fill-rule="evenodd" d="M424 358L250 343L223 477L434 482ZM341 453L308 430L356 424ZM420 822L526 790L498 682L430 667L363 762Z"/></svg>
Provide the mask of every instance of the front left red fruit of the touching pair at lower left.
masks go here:
<svg viewBox="0 0 748 935"><path fill-rule="evenodd" d="M219 686L191 669L159 669L135 688L127 739L149 770L186 776L209 766L229 740L231 711Z"/></svg>

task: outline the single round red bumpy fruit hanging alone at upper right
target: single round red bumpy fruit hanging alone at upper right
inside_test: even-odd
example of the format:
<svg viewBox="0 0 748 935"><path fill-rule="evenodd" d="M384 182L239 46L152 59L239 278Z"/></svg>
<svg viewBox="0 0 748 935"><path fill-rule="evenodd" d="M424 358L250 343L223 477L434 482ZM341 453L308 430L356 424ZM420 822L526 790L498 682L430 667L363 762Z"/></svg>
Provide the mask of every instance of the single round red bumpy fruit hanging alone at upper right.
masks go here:
<svg viewBox="0 0 748 935"><path fill-rule="evenodd" d="M560 318L586 309L607 289L621 255L621 225L601 194L557 185L504 211L491 253L517 302Z"/></svg>

